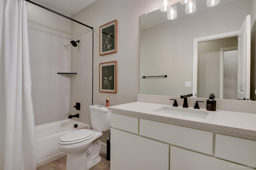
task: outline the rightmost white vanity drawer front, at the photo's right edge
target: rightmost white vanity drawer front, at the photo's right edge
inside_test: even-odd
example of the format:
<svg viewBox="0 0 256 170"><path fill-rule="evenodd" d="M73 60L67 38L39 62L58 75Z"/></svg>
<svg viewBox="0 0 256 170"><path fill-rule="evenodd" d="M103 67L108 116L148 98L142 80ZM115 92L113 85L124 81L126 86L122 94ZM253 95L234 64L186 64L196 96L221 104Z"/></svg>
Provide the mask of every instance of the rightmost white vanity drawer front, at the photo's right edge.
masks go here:
<svg viewBox="0 0 256 170"><path fill-rule="evenodd" d="M215 156L256 167L256 141L216 134Z"/></svg>

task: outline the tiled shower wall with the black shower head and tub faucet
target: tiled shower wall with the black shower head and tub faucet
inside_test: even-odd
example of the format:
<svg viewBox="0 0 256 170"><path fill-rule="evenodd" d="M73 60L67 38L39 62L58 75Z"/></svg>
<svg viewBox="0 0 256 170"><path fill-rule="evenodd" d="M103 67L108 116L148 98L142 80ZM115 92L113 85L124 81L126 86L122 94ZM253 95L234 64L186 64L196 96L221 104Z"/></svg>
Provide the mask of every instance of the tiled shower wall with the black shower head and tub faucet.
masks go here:
<svg viewBox="0 0 256 170"><path fill-rule="evenodd" d="M84 33L74 39L80 40L77 47L71 47L71 72L77 72L70 78L70 113L79 113L79 118L73 118L91 125L90 105L92 105L92 31ZM97 83L97 82L95 82ZM81 109L73 106L76 102Z"/></svg>

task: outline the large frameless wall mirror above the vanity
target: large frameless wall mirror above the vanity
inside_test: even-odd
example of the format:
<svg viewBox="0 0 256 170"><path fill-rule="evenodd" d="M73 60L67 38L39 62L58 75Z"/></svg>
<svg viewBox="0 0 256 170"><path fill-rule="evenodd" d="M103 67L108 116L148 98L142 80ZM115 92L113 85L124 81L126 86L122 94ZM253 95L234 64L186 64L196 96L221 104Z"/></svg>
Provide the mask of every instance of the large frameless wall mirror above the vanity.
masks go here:
<svg viewBox="0 0 256 170"><path fill-rule="evenodd" d="M250 43L245 49L251 59L247 62L246 58L239 58L240 53L246 52L239 49L239 44L244 43L239 30L250 15L250 6L255 5L252 2L220 0L217 6L208 7L206 0L196 0L193 14L186 14L185 6L177 2L174 20L168 20L167 13L160 10L141 16L140 94L193 93L207 98L214 93L216 98L255 100L255 56L250 55ZM254 34L255 26L249 27L249 33ZM249 96L238 93L244 89Z"/></svg>

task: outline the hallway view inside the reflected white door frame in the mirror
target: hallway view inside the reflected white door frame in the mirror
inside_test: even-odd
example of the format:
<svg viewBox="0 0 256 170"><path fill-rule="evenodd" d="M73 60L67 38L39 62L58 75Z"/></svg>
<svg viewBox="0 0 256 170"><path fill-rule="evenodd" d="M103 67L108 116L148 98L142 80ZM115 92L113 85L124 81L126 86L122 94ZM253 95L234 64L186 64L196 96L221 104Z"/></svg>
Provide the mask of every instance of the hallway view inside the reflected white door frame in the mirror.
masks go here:
<svg viewBox="0 0 256 170"><path fill-rule="evenodd" d="M221 50L228 50L235 47L237 48L237 36L198 43L197 97L207 98L208 94L214 93L215 98L223 98L223 92L225 93L232 89L231 87L226 88L227 84L225 84L225 86L222 84L227 82L227 79L231 79L230 75L233 75L228 74L228 72L234 71L228 67L231 67L232 69L235 67L235 74L237 77L237 65L230 65L231 63L227 64L225 61L228 60L228 57L226 56L226 53L224 53L225 55L223 57ZM222 57L225 60L223 60ZM237 81L235 87L233 86L233 89L235 88L235 96L237 93L236 87Z"/></svg>

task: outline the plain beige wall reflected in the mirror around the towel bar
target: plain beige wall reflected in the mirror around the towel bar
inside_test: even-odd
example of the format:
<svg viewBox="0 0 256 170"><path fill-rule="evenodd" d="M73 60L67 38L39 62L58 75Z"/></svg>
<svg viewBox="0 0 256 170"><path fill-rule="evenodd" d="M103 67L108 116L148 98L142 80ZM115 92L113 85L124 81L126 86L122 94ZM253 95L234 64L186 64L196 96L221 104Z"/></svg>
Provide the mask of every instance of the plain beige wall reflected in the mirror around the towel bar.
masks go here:
<svg viewBox="0 0 256 170"><path fill-rule="evenodd" d="M193 76L193 39L239 30L250 14L250 0L232 1L210 9L141 30L140 76L167 74L168 78L141 79L140 94L192 93L192 88L184 85L185 81L192 81Z"/></svg>

